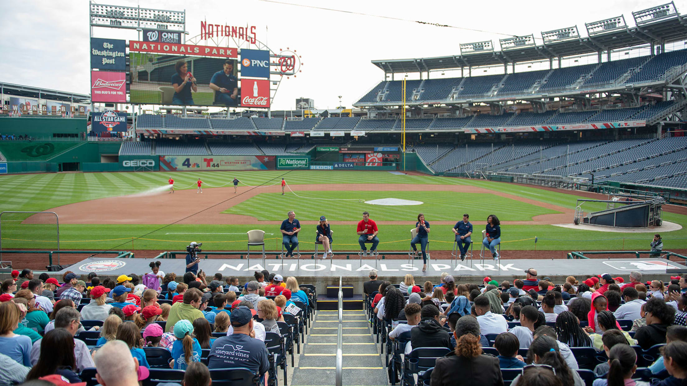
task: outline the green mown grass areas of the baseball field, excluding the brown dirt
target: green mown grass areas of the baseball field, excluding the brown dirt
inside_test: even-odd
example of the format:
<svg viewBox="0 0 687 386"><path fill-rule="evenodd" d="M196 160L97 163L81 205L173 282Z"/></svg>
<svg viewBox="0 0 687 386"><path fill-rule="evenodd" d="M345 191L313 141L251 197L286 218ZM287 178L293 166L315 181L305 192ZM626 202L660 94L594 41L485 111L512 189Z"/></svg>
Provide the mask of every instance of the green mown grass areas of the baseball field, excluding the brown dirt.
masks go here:
<svg viewBox="0 0 687 386"><path fill-rule="evenodd" d="M392 195L393 184L409 183L423 185L462 185L466 191L471 187L486 188L496 192L513 194L537 201L574 209L577 198L574 194L549 192L536 187L521 186L493 181L453 179L447 177L394 175L389 172L336 171L336 170L282 170L261 172L111 172L111 173L46 173L7 175L0 177L0 211L43 211L52 207L111 196L122 196L144 192L151 188L166 185L168 177L173 177L177 188L188 186L195 189L197 178L210 185L222 185L237 177L248 185L271 185L284 176L292 188L302 196L291 194L259 194L236 207L229 213L248 214L261 220L282 220L286 218L285 207L294 208L302 220L313 220L325 214L332 220L357 220L360 209L372 212L372 218L381 220L380 238L383 244L380 251L405 250L408 248L409 230L420 209L427 220L459 220L463 212L471 213L471 218L480 223L488 214L495 213L502 220L530 220L537 214L555 213L530 203L523 203L493 194L470 194L468 192L430 192L396 191ZM304 183L376 183L383 191L374 192L301 192L297 185ZM364 194L361 196L361 194ZM407 198L423 201L427 205L406 207L383 207L367 205L357 201L317 201L314 198ZM423 197L423 198L420 198ZM427 198L425 198L427 197ZM124 198L122 205L128 200ZM284 205L284 200L289 202ZM374 207L374 210L370 209ZM590 206L591 207L591 206ZM354 208L354 209L350 209ZM364 208L364 209L363 209ZM586 207L585 207L586 208ZM598 208L600 209L600 208ZM673 223L687 225L687 216L664 212L664 219ZM383 220L407 220L407 225L385 225ZM570 219L572 221L572 218ZM106 222L106 219L103 219ZM164 229L161 229L164 227ZM151 256L157 251L179 251L191 240L205 242L204 249L245 250L245 232L261 228L267 233L268 249L278 249L280 236L278 225L60 225L60 241L63 249L150 249ZM335 248L339 250L357 249L354 225L333 225ZM481 227L475 227L480 232ZM183 234L186 232L186 234ZM188 233L191 234L188 234ZM302 250L311 251L313 245L313 225L304 226ZM504 250L599 250L631 249L646 250L651 234L624 234L618 232L583 231L554 227L552 225L503 225ZM430 234L432 250L451 249L453 240L450 225L432 227ZM662 232L664 249L684 248L687 245L687 229ZM133 243L132 243L132 238ZM477 240L475 240L477 241ZM41 241L22 242L27 248L40 248ZM477 247L477 245L475 245Z"/></svg>

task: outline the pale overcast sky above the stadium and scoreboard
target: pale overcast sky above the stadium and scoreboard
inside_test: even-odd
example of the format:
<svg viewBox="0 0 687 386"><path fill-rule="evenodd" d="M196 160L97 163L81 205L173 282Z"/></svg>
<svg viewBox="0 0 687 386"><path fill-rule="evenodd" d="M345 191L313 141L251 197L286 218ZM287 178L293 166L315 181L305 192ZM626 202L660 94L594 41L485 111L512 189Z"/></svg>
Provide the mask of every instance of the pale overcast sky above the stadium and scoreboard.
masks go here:
<svg viewBox="0 0 687 386"><path fill-rule="evenodd" d="M295 98L300 97L312 98L318 109L335 108L339 104L337 95L343 95L343 105L350 107L383 80L383 71L370 60L459 54L460 43L476 41L491 40L498 48L498 39L506 35L541 37L541 31L572 25L577 25L580 33L586 36L585 22L624 14L628 25L633 26L632 11L667 1L578 0L537 3L536 6L488 0L285 2L472 30L260 0L102 1L110 5L185 9L189 36L200 33L200 21L204 19L216 24L256 25L258 40L267 41L271 49L296 49L304 63L302 73L297 78L284 78L273 100L274 110L294 109ZM88 1L2 0L2 4L0 58L3 58L4 68L0 81L89 93ZM676 0L675 5L678 12L687 13L687 0ZM269 35L266 26L269 26ZM95 28L94 36L137 39L135 30L111 28Z"/></svg>

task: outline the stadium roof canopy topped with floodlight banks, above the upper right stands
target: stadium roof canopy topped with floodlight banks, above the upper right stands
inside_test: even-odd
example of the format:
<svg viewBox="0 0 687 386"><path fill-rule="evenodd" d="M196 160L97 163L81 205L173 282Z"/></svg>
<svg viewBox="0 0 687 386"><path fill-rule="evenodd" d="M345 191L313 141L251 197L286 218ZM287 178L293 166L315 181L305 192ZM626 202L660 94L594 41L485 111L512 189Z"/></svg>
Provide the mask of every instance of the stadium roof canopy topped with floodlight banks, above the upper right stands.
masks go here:
<svg viewBox="0 0 687 386"><path fill-rule="evenodd" d="M687 38L687 19L677 13L674 3L632 12L635 27L624 16L585 23L587 36L577 26L541 32L541 38L513 36L499 39L501 51L491 41L460 44L460 54L435 58L372 60L385 73L412 73L486 65L532 62L566 56L608 52L638 45L664 45ZM541 41L541 45L535 43Z"/></svg>

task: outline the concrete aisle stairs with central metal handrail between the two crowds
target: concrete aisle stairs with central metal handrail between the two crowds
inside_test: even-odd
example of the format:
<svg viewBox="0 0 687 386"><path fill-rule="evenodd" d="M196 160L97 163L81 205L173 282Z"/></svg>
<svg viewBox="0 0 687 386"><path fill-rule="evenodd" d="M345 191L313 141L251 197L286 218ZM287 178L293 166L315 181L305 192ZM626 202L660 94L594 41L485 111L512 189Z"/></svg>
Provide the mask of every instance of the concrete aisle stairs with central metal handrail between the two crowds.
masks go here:
<svg viewBox="0 0 687 386"><path fill-rule="evenodd" d="M334 291L330 291L334 289ZM334 295L339 287L328 287ZM363 310L363 297L343 287L343 385L388 385L387 370ZM349 297L346 297L348 295ZM293 369L293 386L335 385L338 304L336 297L320 295L315 319Z"/></svg>

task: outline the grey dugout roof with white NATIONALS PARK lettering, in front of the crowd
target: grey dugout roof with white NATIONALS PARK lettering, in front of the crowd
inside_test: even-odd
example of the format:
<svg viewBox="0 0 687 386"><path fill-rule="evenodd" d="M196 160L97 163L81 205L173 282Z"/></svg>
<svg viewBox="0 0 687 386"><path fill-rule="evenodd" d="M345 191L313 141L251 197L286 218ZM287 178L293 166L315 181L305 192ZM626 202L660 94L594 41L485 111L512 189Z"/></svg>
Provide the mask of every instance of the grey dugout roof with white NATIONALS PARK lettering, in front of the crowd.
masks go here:
<svg viewBox="0 0 687 386"><path fill-rule="evenodd" d="M111 258L87 258L69 266L65 271L73 271L78 275L87 275L89 272L98 273L99 277L117 277L118 275L135 273L141 275L150 271L148 264L151 259L118 259ZM161 260L161 271L177 273L179 280L185 273L185 260L164 259ZM494 264L492 260L485 260L480 264L479 260L470 262L457 262L454 260L431 260L427 264L427 271L423 272L422 260L279 260L279 259L206 259L200 262L200 268L212 277L214 273L222 273L225 277L236 276L241 282L251 277L254 271L267 269L270 272L280 273L284 277L295 276L300 283L311 283L317 286L318 293L326 293L326 286L339 284L339 276L343 277L343 284L350 284L354 293L362 293L363 282L369 280L368 273L371 269L379 272L381 280L389 280L392 283L403 281L407 273L412 273L417 284L423 284L425 280L438 282L442 272L448 272L457 283L482 284L482 278L489 276L493 280L502 281L524 278L525 271L529 268L537 269L539 278L550 277L556 283L565 282L565 277L573 275L582 282L587 277L600 273L610 273L613 277L622 276L627 281L630 271L640 271L647 278L668 280L669 274L675 275L680 271L686 271L684 263L671 262L670 260L654 259L556 259L556 260L501 260Z"/></svg>

